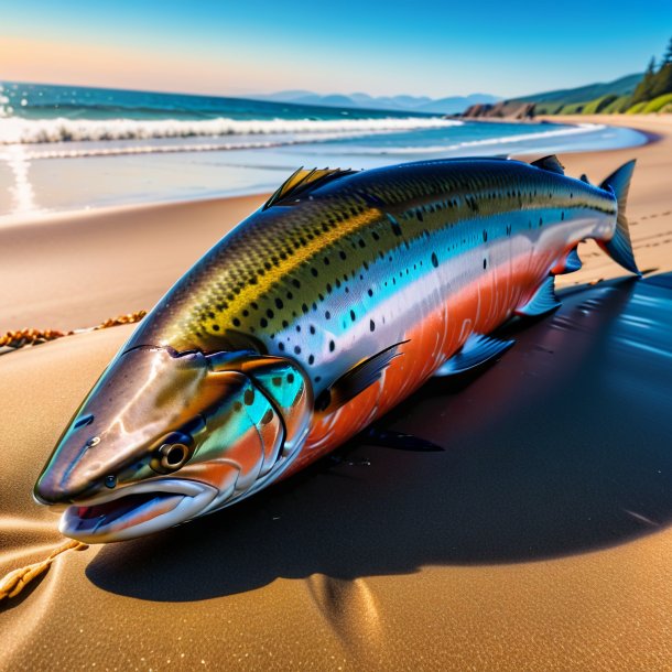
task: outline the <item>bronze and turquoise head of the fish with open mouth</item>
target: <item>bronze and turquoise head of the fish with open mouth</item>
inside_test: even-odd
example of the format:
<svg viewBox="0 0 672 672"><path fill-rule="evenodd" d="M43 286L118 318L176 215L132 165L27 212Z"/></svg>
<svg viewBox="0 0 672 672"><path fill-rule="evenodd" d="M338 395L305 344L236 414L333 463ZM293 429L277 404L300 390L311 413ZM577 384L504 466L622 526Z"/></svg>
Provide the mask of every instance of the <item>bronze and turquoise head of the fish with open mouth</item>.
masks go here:
<svg viewBox="0 0 672 672"><path fill-rule="evenodd" d="M292 360L254 353L121 353L84 400L34 495L86 543L142 536L275 480L300 452L313 400Z"/></svg>

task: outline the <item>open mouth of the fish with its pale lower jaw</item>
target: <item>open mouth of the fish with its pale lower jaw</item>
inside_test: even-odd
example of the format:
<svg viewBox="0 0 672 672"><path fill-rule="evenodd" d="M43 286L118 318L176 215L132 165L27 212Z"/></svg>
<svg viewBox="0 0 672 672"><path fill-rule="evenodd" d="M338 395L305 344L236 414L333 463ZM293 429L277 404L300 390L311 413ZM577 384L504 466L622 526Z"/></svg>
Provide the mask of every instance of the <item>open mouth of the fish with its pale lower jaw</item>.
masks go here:
<svg viewBox="0 0 672 672"><path fill-rule="evenodd" d="M140 483L69 506L58 530L85 543L137 539L191 520L216 495L216 488L195 480Z"/></svg>

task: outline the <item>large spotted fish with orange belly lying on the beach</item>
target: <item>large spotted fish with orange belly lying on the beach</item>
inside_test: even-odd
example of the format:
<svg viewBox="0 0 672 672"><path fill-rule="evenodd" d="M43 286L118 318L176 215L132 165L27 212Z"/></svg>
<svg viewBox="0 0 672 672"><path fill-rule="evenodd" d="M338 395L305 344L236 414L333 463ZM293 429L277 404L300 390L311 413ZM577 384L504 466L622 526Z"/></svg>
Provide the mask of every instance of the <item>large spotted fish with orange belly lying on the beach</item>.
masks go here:
<svg viewBox="0 0 672 672"><path fill-rule="evenodd" d="M139 324L34 498L66 536L107 543L288 478L430 378L496 361L513 340L495 329L559 307L579 242L640 275L633 169L598 186L554 155L297 170Z"/></svg>

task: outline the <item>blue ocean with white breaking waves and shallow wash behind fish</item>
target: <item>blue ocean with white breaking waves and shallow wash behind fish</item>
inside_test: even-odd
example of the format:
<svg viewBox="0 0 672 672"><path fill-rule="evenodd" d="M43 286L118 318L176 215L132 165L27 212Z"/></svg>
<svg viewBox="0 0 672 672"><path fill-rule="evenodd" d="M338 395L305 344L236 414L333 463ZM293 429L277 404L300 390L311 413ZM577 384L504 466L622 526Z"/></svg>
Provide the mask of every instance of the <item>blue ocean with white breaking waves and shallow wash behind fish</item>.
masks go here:
<svg viewBox="0 0 672 672"><path fill-rule="evenodd" d="M242 98L0 83L0 221L269 192L299 166L638 145L604 124L463 121Z"/></svg>

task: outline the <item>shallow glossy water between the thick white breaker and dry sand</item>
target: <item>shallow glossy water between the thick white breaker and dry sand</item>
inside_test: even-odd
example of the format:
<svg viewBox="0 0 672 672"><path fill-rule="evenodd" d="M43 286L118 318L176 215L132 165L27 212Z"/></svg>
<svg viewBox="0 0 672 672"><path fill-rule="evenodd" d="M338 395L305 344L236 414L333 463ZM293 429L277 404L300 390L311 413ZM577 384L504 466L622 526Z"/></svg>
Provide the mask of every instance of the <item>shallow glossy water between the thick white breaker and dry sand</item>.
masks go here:
<svg viewBox="0 0 672 672"><path fill-rule="evenodd" d="M473 128L478 126L476 121L486 120L467 119L460 123ZM647 139L627 128L620 131L620 136L608 138L604 123L588 123L585 119L572 122L554 120L551 123L544 120L487 120L486 124L503 124L522 130L499 130L498 136L492 138L472 130L454 140L446 136L436 141L437 147L427 147L426 143L433 141L420 131L418 147L404 138L397 149L381 145L371 151L376 143L371 148L366 143L364 148L354 145L351 155L342 155L339 143L314 144L313 140L306 139L301 143L307 143L307 153L296 144L284 141L275 142L272 147L226 151L226 148L209 144L200 148L207 151L197 151L197 144L133 144L119 147L119 154L115 152L115 147L119 144L115 141L109 141L109 148L89 143L93 147L90 150L74 142L72 150L67 147L71 143L54 145L59 149L53 156L48 151L41 156L44 152L37 151L36 145L6 145L4 149L0 145L0 186L6 187L4 193L0 191L0 212L6 213L0 215L0 228L46 220L61 214L79 216L80 213L116 207L184 204L272 193L293 167L302 163L355 163L355 167L367 169L427 158L449 159L465 153L520 155L534 152L535 144L544 153L603 151L603 145L615 145L605 149L627 144L637 147ZM402 150L405 142L411 144ZM438 151L442 147L443 152ZM71 151L73 155L69 155ZM89 151L93 153L89 154ZM189 166L186 180L182 176L182 162L187 162ZM91 175L106 175L106 180L91 178ZM227 185L226 191L221 185Z"/></svg>

